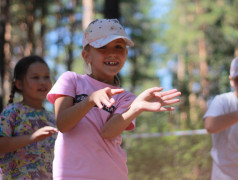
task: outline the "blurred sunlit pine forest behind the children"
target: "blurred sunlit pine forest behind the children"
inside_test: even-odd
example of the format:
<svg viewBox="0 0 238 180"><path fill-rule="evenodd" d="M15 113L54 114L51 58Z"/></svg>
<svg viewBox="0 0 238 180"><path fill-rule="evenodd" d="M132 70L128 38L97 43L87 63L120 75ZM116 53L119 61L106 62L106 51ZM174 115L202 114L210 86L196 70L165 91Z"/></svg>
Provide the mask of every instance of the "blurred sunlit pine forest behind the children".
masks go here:
<svg viewBox="0 0 238 180"><path fill-rule="evenodd" d="M207 104L231 90L238 0L1 0L0 6L0 110L7 104L12 70L20 58L42 56L53 83L64 71L83 73L82 31L95 18L118 18L135 42L119 74L122 86L135 94L152 86L182 92L173 113L144 113L136 129L124 134L130 179L210 179L210 135L130 134L204 128ZM46 107L53 110L47 102Z"/></svg>

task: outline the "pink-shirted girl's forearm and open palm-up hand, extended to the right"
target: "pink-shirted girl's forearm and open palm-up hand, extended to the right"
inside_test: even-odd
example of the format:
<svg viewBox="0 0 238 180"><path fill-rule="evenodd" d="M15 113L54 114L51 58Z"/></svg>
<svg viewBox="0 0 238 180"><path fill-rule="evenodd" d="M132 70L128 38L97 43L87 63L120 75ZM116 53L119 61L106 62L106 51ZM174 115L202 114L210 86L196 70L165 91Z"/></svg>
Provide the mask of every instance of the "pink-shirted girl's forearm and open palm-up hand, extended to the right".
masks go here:
<svg viewBox="0 0 238 180"><path fill-rule="evenodd" d="M103 138L111 139L120 135L143 111L159 112L173 111L173 107L164 107L179 102L174 99L181 93L176 89L160 92L163 88L154 87L142 92L131 104L128 111L123 114L113 115L105 126L102 128L101 135Z"/></svg>

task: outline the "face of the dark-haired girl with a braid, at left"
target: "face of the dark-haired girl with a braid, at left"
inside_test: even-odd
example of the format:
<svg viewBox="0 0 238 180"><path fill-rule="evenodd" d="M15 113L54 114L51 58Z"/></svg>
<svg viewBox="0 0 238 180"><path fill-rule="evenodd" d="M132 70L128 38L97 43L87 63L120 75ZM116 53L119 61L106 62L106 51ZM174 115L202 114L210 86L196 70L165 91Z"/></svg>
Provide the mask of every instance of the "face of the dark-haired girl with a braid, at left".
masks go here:
<svg viewBox="0 0 238 180"><path fill-rule="evenodd" d="M25 104L42 108L42 101L52 86L49 68L40 62L31 64L23 81L17 80L16 86L21 90Z"/></svg>

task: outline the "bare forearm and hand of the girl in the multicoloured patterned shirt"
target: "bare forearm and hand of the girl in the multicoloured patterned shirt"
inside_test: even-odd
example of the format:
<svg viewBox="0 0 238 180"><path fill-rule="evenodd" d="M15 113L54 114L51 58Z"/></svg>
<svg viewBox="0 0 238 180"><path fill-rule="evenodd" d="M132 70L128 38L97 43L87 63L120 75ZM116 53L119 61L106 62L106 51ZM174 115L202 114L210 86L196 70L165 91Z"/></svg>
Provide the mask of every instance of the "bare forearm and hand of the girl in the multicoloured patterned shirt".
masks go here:
<svg viewBox="0 0 238 180"><path fill-rule="evenodd" d="M0 137L0 153L7 153L15 151L19 148L23 148L24 146L41 141L54 133L58 132L56 128L45 126L43 128L38 129L33 134L24 135L24 136L1 136Z"/></svg>

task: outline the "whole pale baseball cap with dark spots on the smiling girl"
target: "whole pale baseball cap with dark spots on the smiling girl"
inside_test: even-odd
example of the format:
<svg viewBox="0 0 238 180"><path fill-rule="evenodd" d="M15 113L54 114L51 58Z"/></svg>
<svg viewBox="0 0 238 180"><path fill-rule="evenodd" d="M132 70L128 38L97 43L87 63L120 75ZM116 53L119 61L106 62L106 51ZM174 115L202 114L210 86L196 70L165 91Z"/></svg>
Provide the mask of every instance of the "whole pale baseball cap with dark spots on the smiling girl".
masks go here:
<svg viewBox="0 0 238 180"><path fill-rule="evenodd" d="M116 39L123 39L128 46L134 46L117 19L96 19L85 30L82 43L83 48L88 44L100 48Z"/></svg>

